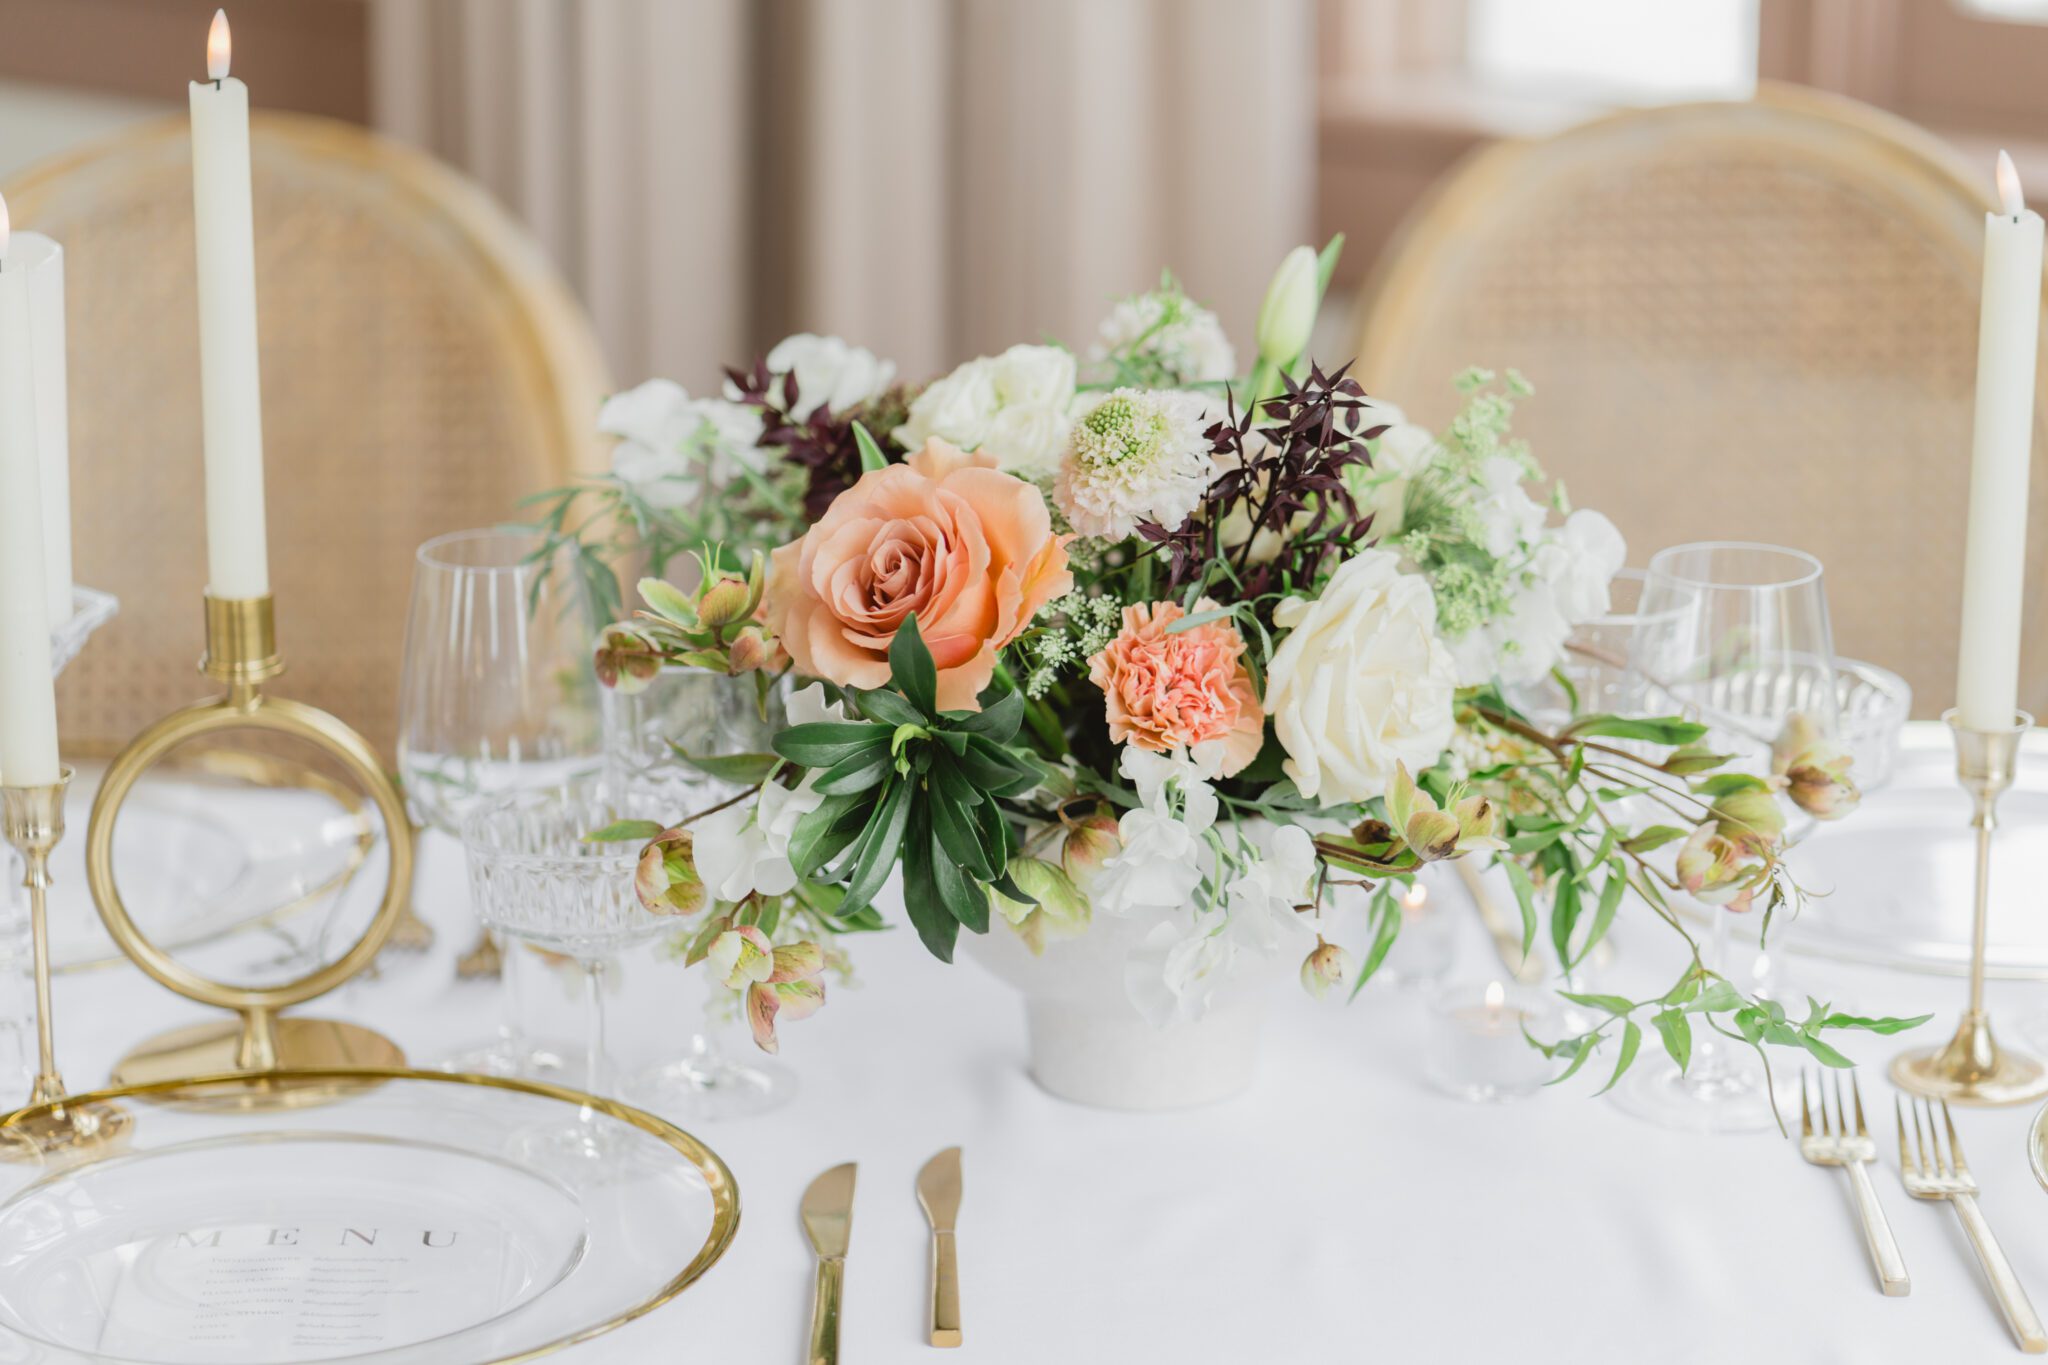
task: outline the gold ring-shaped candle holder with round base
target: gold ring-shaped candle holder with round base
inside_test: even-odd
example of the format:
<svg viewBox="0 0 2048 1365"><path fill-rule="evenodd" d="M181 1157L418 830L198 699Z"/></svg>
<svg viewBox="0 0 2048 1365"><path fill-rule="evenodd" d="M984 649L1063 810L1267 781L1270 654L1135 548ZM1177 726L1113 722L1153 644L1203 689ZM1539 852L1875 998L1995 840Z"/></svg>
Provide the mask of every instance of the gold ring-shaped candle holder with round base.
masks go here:
<svg viewBox="0 0 2048 1365"><path fill-rule="evenodd" d="M106 931L160 984L240 1015L236 1021L201 1023L143 1042L115 1066L115 1085L213 1072L403 1066L397 1044L375 1029L334 1019L281 1017L281 1011L334 990L369 966L403 913L412 886L412 825L397 788L352 729L313 706L264 694L262 686L283 669L272 598L207 596L207 655L199 671L223 684L225 696L174 710L145 729L100 782L86 829L86 878ZM291 737L334 759L377 804L391 849L389 880L362 937L336 960L272 986L229 984L193 970L141 931L115 884L115 829L135 782L178 745L229 731Z"/></svg>

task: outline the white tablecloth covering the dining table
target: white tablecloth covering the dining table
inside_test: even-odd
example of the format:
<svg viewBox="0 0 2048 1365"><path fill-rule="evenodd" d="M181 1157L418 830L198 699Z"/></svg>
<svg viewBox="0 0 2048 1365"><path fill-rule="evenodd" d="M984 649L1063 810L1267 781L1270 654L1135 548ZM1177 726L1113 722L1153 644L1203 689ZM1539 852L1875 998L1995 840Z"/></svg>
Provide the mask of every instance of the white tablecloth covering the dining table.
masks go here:
<svg viewBox="0 0 2048 1365"><path fill-rule="evenodd" d="M428 1062L489 1029L496 993L451 982L469 929L449 841L426 841L420 888L442 931L432 958L317 1007L375 1023ZM57 907L90 913L78 886L59 888ZM799 1099L692 1126L739 1181L731 1252L678 1302L567 1359L799 1359L811 1257L797 1199L842 1160L860 1162L844 1359L946 1359L924 1345L926 1226L911 1179L954 1142L967 1148L958 1361L1868 1365L2013 1351L1954 1214L1898 1189L1882 1081L1892 1040L1851 1036L1845 1050L1868 1064L1876 1183L1913 1275L1903 1300L1876 1289L1843 1177L1802 1164L1776 1134L1651 1128L1587 1099L1593 1078L1505 1107L1430 1091L1415 995L1374 988L1343 1007L1290 990L1245 1097L1100 1113L1030 1083L1022 1009L987 972L928 960L909 931L854 948L862 986L836 988L823 1013L784 1029ZM1661 978L1673 948L1638 925L1616 988L1649 988L1634 972L1655 966ZM1845 1009L1937 1011L1923 1033L1946 1033L1964 993L1960 980L1800 970ZM1497 974L1477 927L1460 974ZM1995 986L1993 1005L2019 1040L2048 993ZM127 968L66 976L66 1072L96 1083L127 1046L197 1013ZM662 1040L621 1042L647 1052ZM2048 1308L2048 1195L2025 1164L2030 1119L1958 1111L1991 1222Z"/></svg>

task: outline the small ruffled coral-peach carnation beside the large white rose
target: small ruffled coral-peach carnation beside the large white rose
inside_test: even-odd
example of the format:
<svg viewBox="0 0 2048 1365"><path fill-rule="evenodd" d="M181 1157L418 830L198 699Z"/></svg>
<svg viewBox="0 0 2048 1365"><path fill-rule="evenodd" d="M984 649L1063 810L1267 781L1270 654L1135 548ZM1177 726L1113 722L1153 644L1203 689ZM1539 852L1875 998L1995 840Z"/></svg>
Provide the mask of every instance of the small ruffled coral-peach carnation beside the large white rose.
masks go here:
<svg viewBox="0 0 2048 1365"><path fill-rule="evenodd" d="M1196 604L1214 608L1206 598ZM1126 606L1124 628L1087 661L1087 677L1108 698L1110 739L1155 753L1221 739L1229 778L1260 755L1266 726L1245 639L1229 620L1167 634L1182 616L1176 602Z"/></svg>

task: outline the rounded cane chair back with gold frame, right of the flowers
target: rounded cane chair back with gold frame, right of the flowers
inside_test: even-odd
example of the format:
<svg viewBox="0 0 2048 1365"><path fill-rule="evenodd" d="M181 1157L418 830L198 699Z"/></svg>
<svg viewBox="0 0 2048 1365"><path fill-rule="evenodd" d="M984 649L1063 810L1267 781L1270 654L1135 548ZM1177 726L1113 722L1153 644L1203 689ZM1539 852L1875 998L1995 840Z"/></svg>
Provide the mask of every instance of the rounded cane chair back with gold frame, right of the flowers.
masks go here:
<svg viewBox="0 0 2048 1365"><path fill-rule="evenodd" d="M1366 317L1368 389L1438 422L1513 364L1522 430L1630 563L1769 540L1827 565L1837 649L1952 704L1985 190L1839 102L1647 111L1454 172ZM2048 393L2048 387L2044 387ZM2048 532L2036 438L2034 555ZM2048 714L2048 591L2021 706Z"/></svg>

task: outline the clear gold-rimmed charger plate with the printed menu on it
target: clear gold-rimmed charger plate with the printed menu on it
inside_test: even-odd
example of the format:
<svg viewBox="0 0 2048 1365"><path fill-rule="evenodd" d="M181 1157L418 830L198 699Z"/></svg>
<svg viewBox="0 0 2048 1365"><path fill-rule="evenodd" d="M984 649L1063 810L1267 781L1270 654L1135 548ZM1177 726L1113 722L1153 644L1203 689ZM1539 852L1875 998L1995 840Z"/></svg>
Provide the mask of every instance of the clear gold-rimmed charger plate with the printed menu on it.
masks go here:
<svg viewBox="0 0 2048 1365"><path fill-rule="evenodd" d="M578 1091L418 1070L115 1087L109 1148L0 1119L4 1365L502 1365L666 1304L739 1226L719 1156ZM303 1095L299 1097L303 1099ZM584 1142L563 1142L563 1132Z"/></svg>

